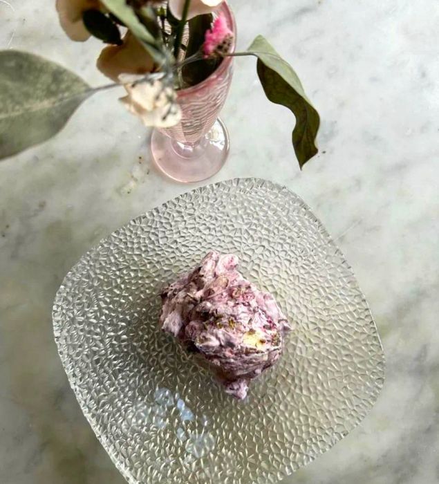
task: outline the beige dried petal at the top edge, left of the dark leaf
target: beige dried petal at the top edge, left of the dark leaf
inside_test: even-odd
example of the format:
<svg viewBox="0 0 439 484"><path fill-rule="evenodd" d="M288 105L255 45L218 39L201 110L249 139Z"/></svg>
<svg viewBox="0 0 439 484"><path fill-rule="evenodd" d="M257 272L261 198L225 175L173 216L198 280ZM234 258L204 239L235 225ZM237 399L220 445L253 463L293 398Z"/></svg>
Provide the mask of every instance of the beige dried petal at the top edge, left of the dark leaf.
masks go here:
<svg viewBox="0 0 439 484"><path fill-rule="evenodd" d="M86 10L99 10L99 0L57 0L59 23L72 40L85 41L90 32L84 26L82 14Z"/></svg>

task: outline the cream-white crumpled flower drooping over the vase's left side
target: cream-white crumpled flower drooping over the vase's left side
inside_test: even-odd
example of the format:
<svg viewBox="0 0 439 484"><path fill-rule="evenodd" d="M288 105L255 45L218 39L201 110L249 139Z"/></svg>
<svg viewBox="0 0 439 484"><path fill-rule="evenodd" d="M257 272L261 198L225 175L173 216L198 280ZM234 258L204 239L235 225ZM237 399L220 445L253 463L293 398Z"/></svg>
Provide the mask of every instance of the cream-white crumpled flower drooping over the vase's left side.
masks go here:
<svg viewBox="0 0 439 484"><path fill-rule="evenodd" d="M144 80L142 75L121 74L119 81L128 95L121 97L130 113L140 117L145 126L169 128L180 122L181 109L176 91L161 80Z"/></svg>

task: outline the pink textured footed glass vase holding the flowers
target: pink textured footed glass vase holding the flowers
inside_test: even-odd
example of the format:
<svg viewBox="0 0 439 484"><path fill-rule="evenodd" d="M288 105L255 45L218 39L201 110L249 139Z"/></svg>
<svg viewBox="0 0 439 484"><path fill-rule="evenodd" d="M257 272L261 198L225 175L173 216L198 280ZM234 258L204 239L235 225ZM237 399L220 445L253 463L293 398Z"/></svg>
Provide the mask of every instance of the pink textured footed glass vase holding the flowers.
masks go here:
<svg viewBox="0 0 439 484"><path fill-rule="evenodd" d="M236 38L234 17L226 2L221 3L214 15L219 14L224 15ZM197 182L214 176L223 167L230 142L218 114L232 81L232 59L225 57L203 82L178 91L182 118L176 126L154 129L153 160L169 178L183 183Z"/></svg>

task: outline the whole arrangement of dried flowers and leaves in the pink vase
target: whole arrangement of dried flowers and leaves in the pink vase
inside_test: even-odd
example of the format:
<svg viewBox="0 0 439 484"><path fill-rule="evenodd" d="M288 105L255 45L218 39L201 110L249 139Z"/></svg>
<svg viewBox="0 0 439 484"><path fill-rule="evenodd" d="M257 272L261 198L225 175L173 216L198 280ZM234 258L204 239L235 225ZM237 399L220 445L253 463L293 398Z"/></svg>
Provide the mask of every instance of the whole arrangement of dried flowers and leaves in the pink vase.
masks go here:
<svg viewBox="0 0 439 484"><path fill-rule="evenodd" d="M259 35L235 52L224 0L56 0L68 37L100 39L97 68L112 81L91 88L70 71L37 55L0 51L0 158L54 136L87 97L122 84L127 109L148 127L172 127L181 118L178 91L206 80L227 56L254 56L265 95L295 115L292 131L300 167L317 153L319 115L292 67ZM26 72L26 76L23 73ZM33 82L30 88L29 80ZM53 82L56 80L56 82ZM26 118L28 130L20 129Z"/></svg>

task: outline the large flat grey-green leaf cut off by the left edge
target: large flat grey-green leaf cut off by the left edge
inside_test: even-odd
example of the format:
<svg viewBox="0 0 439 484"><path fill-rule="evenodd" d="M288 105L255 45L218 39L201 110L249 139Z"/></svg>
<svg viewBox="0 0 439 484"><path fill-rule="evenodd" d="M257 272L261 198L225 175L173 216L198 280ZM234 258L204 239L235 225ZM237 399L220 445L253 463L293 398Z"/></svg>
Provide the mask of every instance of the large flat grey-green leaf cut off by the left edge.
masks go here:
<svg viewBox="0 0 439 484"><path fill-rule="evenodd" d="M37 55L0 51L0 159L48 140L93 91Z"/></svg>

